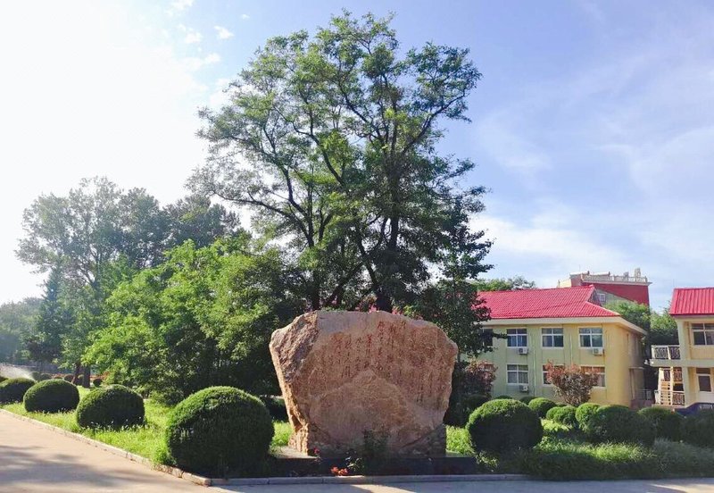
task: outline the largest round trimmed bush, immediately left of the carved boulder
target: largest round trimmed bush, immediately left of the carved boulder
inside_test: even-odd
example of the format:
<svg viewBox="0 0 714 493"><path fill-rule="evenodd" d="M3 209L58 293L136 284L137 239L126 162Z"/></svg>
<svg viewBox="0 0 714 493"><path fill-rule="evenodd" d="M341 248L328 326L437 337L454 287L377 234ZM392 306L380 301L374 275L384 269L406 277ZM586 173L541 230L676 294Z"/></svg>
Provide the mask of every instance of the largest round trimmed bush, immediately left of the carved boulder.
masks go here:
<svg viewBox="0 0 714 493"><path fill-rule="evenodd" d="M210 387L174 408L166 445L176 464L189 471L245 474L262 464L273 432L261 399L234 387Z"/></svg>

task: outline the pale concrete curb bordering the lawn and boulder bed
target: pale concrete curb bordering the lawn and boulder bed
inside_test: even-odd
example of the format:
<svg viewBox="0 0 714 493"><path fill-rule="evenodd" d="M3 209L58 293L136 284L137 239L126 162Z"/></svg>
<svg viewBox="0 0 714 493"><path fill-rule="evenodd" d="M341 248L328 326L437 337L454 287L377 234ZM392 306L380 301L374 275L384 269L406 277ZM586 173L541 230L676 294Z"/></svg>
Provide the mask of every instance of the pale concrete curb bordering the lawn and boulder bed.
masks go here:
<svg viewBox="0 0 714 493"><path fill-rule="evenodd" d="M221 479L221 478L205 478L194 474L192 472L186 472L178 467L173 467L170 465L156 464L146 457L141 455L132 454L127 450L119 447L112 447L99 440L90 439L79 433L73 433L68 430L64 430L52 424L46 422L41 422L29 418L27 416L22 416L21 414L14 414L5 409L0 409L0 413L11 416L17 420L24 422L31 422L36 426L45 428L46 430L51 430L56 433L60 433L65 437L70 437L71 439L79 440L87 445L97 447L101 450L105 450L113 455L119 455L133 461L137 464L142 464L154 471L164 472L170 474L171 476L176 476L182 480L191 481L199 486L261 486L268 484L275 485L289 485L289 484L396 484L396 483L424 483L424 482L462 482L462 481L499 481L499 480L530 480L530 476L526 474L442 474L442 475L421 475L421 476L306 476L306 477L295 477L295 478L233 478L233 479Z"/></svg>

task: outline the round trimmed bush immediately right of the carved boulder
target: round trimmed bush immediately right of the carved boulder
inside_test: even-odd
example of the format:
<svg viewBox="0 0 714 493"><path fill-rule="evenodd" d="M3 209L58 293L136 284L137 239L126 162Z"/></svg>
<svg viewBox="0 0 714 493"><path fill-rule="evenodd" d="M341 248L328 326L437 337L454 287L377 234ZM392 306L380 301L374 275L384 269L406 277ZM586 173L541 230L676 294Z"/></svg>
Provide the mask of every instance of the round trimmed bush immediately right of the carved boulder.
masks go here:
<svg viewBox="0 0 714 493"><path fill-rule="evenodd" d="M466 424L474 450L506 452L533 448L543 438L540 418L515 399L495 399L481 405Z"/></svg>

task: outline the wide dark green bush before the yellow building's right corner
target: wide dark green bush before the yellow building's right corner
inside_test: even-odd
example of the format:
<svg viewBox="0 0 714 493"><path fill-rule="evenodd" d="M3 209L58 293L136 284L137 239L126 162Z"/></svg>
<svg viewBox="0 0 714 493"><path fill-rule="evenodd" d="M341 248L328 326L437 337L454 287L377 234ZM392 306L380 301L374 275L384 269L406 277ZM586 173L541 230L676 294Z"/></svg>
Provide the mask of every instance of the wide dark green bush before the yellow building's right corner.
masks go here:
<svg viewBox="0 0 714 493"><path fill-rule="evenodd" d="M594 442L639 443L652 447L654 425L624 405L603 405L594 412L585 429Z"/></svg>

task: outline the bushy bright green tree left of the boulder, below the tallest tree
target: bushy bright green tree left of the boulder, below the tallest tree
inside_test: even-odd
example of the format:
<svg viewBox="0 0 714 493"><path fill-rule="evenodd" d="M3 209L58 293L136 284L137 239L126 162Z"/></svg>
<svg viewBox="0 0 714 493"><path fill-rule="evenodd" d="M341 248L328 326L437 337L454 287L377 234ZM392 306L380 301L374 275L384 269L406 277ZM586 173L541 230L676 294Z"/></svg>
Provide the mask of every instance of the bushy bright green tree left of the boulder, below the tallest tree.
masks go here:
<svg viewBox="0 0 714 493"><path fill-rule="evenodd" d="M268 343L304 305L275 247L245 234L196 248L122 282L87 358L112 380L176 401L212 385L277 391Z"/></svg>

